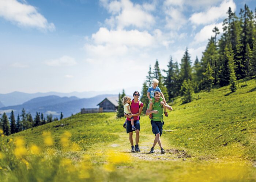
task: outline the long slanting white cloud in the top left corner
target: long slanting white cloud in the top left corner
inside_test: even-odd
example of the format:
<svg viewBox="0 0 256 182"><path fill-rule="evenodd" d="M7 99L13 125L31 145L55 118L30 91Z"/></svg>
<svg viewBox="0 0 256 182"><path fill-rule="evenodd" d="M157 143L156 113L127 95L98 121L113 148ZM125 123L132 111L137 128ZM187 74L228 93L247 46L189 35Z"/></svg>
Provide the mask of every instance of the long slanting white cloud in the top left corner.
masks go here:
<svg viewBox="0 0 256 182"><path fill-rule="evenodd" d="M55 29L54 24L48 23L35 7L17 0L0 0L0 16L22 27L33 27L42 31Z"/></svg>

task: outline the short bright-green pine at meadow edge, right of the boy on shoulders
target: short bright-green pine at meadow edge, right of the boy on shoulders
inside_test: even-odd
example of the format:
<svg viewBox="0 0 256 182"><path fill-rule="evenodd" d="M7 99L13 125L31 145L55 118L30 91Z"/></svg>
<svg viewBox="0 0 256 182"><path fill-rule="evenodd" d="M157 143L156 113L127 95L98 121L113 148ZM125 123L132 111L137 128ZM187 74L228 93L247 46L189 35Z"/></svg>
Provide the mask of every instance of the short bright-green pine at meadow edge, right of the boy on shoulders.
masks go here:
<svg viewBox="0 0 256 182"><path fill-rule="evenodd" d="M182 103L191 102L193 100L193 86L191 80L184 80L181 86L183 97L181 98Z"/></svg>

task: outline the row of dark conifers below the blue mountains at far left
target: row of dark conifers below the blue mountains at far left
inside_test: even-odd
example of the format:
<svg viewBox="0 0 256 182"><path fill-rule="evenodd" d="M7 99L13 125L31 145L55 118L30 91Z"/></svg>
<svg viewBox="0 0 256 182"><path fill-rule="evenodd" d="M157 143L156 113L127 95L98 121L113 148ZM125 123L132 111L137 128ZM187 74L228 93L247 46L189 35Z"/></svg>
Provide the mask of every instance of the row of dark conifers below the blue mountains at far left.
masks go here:
<svg viewBox="0 0 256 182"><path fill-rule="evenodd" d="M0 114L1 115L1 114ZM63 113L60 114L60 120L63 119ZM3 116L0 118L0 129L3 130L4 135L14 134L19 131L27 130L29 128L50 123L53 121L59 120L57 117L53 118L52 114L44 116L43 113L36 112L35 118L33 119L30 113L26 113L23 108L21 115L18 114L17 119L15 120L14 111L11 111L10 117L3 113Z"/></svg>

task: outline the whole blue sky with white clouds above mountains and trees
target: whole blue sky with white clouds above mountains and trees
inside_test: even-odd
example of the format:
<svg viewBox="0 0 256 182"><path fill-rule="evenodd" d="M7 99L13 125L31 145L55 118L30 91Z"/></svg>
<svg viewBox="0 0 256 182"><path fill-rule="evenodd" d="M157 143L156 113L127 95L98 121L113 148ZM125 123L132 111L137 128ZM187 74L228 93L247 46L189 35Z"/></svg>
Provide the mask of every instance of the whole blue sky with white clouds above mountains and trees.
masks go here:
<svg viewBox="0 0 256 182"><path fill-rule="evenodd" d="M141 90L149 65L199 59L254 0L0 0L0 93ZM113 93L117 94L117 93Z"/></svg>

